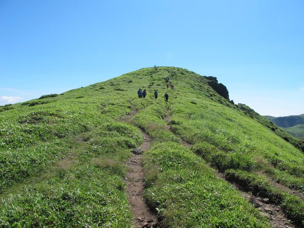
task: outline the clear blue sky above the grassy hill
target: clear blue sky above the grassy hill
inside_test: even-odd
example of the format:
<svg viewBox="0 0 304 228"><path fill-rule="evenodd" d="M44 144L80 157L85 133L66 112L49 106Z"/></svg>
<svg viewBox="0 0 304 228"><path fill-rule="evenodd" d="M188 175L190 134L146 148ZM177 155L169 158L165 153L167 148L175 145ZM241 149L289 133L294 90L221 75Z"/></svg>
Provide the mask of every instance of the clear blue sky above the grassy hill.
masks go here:
<svg viewBox="0 0 304 228"><path fill-rule="evenodd" d="M261 115L303 114L304 0L0 0L0 105L154 65L216 76Z"/></svg>

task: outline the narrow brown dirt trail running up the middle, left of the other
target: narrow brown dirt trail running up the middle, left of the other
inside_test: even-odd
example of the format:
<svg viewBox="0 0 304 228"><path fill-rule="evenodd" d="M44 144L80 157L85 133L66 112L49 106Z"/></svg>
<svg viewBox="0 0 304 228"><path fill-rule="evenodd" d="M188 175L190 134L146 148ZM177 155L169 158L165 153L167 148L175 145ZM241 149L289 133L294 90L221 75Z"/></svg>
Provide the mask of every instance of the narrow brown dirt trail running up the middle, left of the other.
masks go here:
<svg viewBox="0 0 304 228"><path fill-rule="evenodd" d="M126 117L120 118L121 121L129 122L131 117L136 115L137 111L133 107L133 111ZM140 146L142 153L135 154L127 160L128 172L126 175L126 187L128 194L128 201L130 202L132 214L134 216L133 226L136 228L159 228L159 218L155 215L155 212L151 211L143 199L144 185L143 178L144 172L142 169L142 159L144 153L151 147L153 141L147 133L140 130L144 141Z"/></svg>

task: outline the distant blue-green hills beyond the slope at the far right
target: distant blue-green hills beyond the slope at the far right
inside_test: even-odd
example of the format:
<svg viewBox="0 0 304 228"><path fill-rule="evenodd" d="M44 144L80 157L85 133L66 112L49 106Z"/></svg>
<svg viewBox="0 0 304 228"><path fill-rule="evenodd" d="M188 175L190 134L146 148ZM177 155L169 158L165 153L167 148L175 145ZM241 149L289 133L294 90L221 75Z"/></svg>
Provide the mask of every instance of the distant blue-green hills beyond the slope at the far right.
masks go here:
<svg viewBox="0 0 304 228"><path fill-rule="evenodd" d="M294 137L304 138L304 114L298 116L272 117L264 116L275 125Z"/></svg>

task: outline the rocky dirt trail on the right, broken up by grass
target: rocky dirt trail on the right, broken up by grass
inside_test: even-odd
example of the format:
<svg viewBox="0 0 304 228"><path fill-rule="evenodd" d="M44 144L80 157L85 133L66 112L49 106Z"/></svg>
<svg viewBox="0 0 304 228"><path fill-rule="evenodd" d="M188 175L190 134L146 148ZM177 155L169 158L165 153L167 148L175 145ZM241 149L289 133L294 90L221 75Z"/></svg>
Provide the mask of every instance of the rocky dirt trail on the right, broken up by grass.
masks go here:
<svg viewBox="0 0 304 228"><path fill-rule="evenodd" d="M169 114L170 110L168 110ZM170 120L171 115L169 114L166 118L165 121L168 123ZM169 125L166 125L167 130L171 131L171 127ZM181 144L183 144L185 147L190 147L191 144L184 142L183 140L180 139ZM221 179L224 179L225 181L228 181L225 177L224 174L222 173L217 173L217 176L220 177ZM230 182L230 181L228 181ZM231 182L230 182L231 183ZM247 199L254 207L257 208L258 211L260 211L260 214L264 217L266 217L269 220L269 224L273 228L297 228L294 226L291 221L286 217L284 214L283 210L275 205L269 203L268 199L261 199L258 197L253 196L251 193L248 193L242 189L242 186L239 186L235 183L231 183L232 186L237 189L240 194Z"/></svg>

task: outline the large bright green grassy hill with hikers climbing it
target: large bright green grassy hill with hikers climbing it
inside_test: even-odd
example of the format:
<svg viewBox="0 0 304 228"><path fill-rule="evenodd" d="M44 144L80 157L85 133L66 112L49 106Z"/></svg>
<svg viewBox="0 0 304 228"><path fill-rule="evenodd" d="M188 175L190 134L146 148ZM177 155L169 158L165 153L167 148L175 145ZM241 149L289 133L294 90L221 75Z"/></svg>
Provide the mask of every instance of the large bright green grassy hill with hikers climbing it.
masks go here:
<svg viewBox="0 0 304 228"><path fill-rule="evenodd" d="M228 181L304 227L302 141L232 104L209 79L145 68L0 107L0 227L131 228L125 163L144 140L140 129L154 139L144 199L162 227L271 227Z"/></svg>

